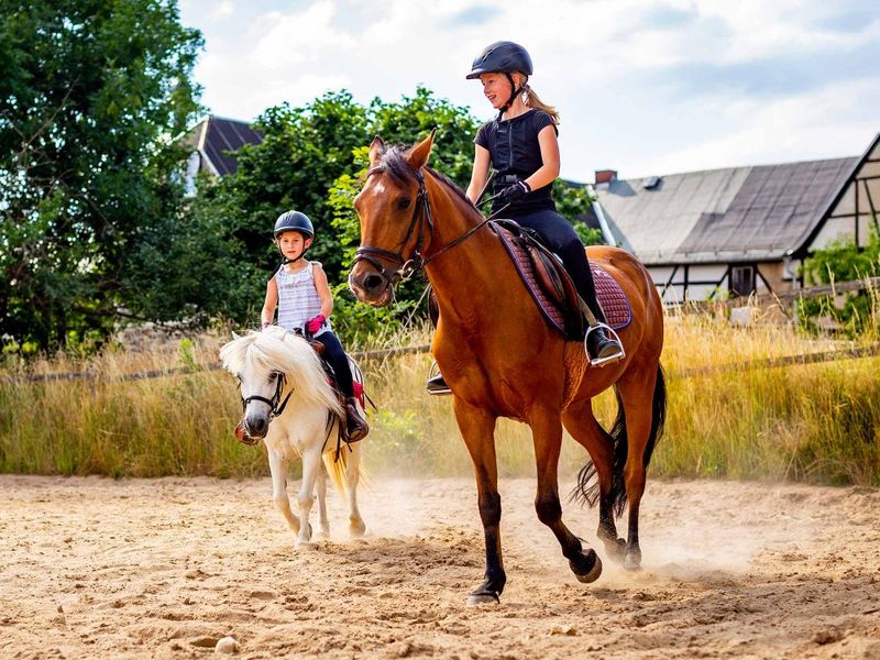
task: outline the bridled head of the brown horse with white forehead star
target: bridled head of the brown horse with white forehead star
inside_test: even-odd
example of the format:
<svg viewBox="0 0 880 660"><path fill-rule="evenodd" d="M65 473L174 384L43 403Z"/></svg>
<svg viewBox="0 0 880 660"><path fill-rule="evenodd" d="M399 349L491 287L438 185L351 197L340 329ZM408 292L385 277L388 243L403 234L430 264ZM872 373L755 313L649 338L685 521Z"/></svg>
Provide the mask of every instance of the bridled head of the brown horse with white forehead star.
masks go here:
<svg viewBox="0 0 880 660"><path fill-rule="evenodd" d="M388 305L394 286L421 265L431 234L421 170L431 154L433 134L406 151L386 147L378 136L370 145L366 183L354 199L361 248L349 274L349 287L361 302Z"/></svg>

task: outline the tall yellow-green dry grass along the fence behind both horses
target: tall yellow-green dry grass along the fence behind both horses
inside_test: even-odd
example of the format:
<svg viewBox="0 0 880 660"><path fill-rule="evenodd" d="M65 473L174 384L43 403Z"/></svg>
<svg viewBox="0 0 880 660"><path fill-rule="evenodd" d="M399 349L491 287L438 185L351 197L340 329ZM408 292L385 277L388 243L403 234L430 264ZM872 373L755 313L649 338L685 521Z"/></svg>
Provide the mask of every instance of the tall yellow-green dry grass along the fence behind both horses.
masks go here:
<svg viewBox="0 0 880 660"><path fill-rule="evenodd" d="M389 344L427 343L410 330ZM876 337L868 336L867 340ZM193 371L146 381L122 374L213 365L222 343L201 337L191 345L107 351L88 361L63 355L0 373L0 471L41 474L155 476L266 473L258 449L232 438L240 402L231 376ZM789 326L734 328L721 316L671 315L663 364L668 373L667 432L652 475L729 476L880 485L880 358L770 367L761 361L839 348ZM744 369L744 362L757 366ZM707 367L740 365L700 373ZM365 460L374 474L461 475L471 461L450 397L429 397L430 356L364 360L371 415ZM88 382L3 383L26 373L88 370ZM617 410L600 397L606 426ZM534 474L529 429L501 420L502 475ZM585 452L566 438L561 465L573 472Z"/></svg>

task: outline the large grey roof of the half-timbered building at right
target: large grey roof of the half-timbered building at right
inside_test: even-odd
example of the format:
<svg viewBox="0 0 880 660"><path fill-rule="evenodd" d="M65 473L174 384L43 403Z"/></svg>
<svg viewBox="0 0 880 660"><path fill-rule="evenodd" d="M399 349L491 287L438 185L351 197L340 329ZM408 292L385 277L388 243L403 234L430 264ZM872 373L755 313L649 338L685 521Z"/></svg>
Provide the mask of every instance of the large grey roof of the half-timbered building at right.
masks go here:
<svg viewBox="0 0 880 660"><path fill-rule="evenodd" d="M618 179L596 194L615 238L646 264L778 260L821 222L859 160Z"/></svg>

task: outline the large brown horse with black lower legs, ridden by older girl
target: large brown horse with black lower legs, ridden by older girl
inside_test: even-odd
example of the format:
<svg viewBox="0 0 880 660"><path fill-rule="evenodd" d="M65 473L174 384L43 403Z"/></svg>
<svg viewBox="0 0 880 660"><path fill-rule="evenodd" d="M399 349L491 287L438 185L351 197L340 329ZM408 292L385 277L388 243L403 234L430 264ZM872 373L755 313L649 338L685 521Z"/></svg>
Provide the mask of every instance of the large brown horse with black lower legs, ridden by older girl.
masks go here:
<svg viewBox="0 0 880 660"><path fill-rule="evenodd" d="M626 359L590 367L582 342L565 341L536 308L505 249L480 211L449 179L427 167L433 133L409 150L370 146L370 170L354 200L361 248L349 275L359 300L383 306L394 286L425 267L440 318L432 351L452 389L455 419L474 463L486 542L485 581L469 603L497 602L506 575L502 561L495 421L508 417L531 427L538 472L535 509L556 535L581 582L602 572L595 550L562 522L557 469L562 427L592 458L576 494L600 504L598 538L606 552L638 569L639 503L648 462L662 433L666 386L660 369L663 310L650 275L615 248L587 254L620 284L632 321L619 332ZM610 433L593 415L592 399L614 386L618 416ZM597 484L590 484L592 477ZM626 541L615 513L629 503Z"/></svg>

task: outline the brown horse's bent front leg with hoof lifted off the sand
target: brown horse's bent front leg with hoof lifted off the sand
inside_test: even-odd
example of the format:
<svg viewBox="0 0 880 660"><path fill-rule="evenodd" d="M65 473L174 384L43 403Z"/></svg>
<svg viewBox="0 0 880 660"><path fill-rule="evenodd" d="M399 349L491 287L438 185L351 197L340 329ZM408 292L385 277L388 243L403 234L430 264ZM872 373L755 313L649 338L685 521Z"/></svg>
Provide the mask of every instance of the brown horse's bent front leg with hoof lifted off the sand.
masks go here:
<svg viewBox="0 0 880 660"><path fill-rule="evenodd" d="M581 539L574 536L562 521L562 505L559 502L559 453L562 448L562 421L558 413L538 410L529 420L535 442L535 461L538 470L538 491L535 510L538 519L547 525L562 547L562 554L581 582L593 582L602 574L602 561L592 548L583 550Z"/></svg>

